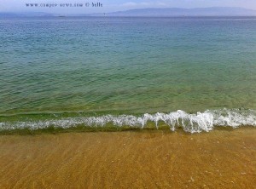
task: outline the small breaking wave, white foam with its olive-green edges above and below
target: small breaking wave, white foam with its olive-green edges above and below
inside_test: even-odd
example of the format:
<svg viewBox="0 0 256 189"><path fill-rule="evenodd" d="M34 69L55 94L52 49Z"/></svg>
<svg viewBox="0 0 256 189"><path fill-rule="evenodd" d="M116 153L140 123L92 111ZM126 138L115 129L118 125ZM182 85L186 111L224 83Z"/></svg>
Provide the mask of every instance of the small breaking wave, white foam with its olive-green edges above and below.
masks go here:
<svg viewBox="0 0 256 189"><path fill-rule="evenodd" d="M60 117L59 117L60 116ZM66 133L88 131L123 131L134 129L183 129L189 133L212 131L215 128L233 128L256 126L256 111L246 109L219 109L190 113L182 110L176 112L142 115L83 116L49 114L45 117L0 117L0 135L36 135L42 133Z"/></svg>

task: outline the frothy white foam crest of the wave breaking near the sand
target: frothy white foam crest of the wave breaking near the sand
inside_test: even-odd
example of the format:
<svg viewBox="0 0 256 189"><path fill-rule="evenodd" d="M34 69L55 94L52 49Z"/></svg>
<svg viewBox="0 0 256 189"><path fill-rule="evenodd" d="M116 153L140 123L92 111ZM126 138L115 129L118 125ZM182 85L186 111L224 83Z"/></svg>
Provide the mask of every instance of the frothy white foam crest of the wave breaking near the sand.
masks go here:
<svg viewBox="0 0 256 189"><path fill-rule="evenodd" d="M0 130L6 129L47 129L72 128L78 125L84 127L105 127L108 123L115 127L128 126L131 128L143 129L148 127L148 123L153 122L156 129L159 129L160 122L166 123L172 131L182 128L189 133L200 133L201 131L211 131L214 127L256 126L255 110L207 110L189 114L178 110L170 113L145 113L142 117L132 115L106 115L101 117L66 117L59 119L26 121L26 122L2 122Z"/></svg>

